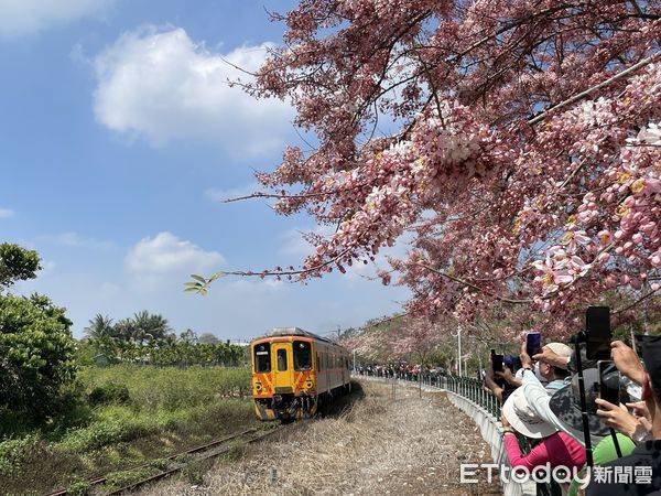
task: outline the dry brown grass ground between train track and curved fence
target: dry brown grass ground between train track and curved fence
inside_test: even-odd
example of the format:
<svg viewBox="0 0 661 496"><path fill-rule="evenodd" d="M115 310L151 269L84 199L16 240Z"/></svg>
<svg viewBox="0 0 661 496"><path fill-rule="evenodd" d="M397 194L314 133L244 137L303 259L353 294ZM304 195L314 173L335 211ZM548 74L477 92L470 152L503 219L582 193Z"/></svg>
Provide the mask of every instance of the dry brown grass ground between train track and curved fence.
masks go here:
<svg viewBox="0 0 661 496"><path fill-rule="evenodd" d="M380 382L323 419L141 495L497 495L497 482L459 484L459 464L492 463L475 423L443 392ZM192 484L191 481L194 481Z"/></svg>

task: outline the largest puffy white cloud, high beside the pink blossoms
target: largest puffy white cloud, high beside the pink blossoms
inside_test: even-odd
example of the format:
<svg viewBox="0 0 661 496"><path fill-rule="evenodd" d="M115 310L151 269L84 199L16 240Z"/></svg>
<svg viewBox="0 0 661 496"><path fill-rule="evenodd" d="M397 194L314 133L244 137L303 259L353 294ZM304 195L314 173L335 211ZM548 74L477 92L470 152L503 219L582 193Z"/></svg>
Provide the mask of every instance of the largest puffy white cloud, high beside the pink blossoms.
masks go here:
<svg viewBox="0 0 661 496"><path fill-rule="evenodd" d="M217 143L237 155L280 149L293 117L279 100L257 100L227 82L247 80L264 61L268 43L212 53L181 28L126 33L94 66L97 120L153 147L173 140ZM236 66L236 67L235 67Z"/></svg>

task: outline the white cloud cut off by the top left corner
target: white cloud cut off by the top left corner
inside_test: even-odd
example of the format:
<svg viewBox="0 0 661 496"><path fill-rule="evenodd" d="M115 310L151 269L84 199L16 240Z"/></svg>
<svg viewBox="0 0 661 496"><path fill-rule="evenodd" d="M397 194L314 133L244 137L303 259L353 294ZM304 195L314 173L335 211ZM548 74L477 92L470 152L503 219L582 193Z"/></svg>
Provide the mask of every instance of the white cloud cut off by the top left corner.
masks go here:
<svg viewBox="0 0 661 496"><path fill-rule="evenodd" d="M21 36L51 25L100 17L115 0L0 0L0 35Z"/></svg>

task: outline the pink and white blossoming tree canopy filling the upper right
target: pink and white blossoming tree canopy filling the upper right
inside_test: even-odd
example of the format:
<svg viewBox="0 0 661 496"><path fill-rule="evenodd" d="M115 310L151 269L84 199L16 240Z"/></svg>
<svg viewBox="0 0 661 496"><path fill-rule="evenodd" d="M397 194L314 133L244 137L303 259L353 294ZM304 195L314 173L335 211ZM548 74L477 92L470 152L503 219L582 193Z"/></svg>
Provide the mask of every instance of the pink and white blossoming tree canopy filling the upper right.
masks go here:
<svg viewBox="0 0 661 496"><path fill-rule="evenodd" d="M279 214L336 226L285 274L344 271L412 230L392 260L409 311L654 296L660 14L659 0L301 0L275 15L285 43L248 88L290 100L318 145L258 179Z"/></svg>

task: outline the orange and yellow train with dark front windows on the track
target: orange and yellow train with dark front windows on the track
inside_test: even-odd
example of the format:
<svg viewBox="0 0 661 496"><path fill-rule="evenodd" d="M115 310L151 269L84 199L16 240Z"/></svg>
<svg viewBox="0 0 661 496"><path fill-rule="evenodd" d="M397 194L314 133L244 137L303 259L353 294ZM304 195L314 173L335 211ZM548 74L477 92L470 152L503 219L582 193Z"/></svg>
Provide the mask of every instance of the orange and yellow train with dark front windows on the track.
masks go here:
<svg viewBox="0 0 661 496"><path fill-rule="evenodd" d="M349 352L299 327L277 327L250 344L252 398L261 420L300 419L350 389Z"/></svg>

